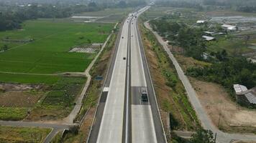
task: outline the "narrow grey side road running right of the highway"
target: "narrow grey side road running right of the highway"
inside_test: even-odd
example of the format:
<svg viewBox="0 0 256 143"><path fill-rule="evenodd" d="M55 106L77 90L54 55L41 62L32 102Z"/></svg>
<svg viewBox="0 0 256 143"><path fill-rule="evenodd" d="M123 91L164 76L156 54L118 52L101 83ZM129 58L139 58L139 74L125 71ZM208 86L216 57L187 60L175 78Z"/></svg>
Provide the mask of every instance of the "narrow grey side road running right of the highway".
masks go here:
<svg viewBox="0 0 256 143"><path fill-rule="evenodd" d="M165 41L163 41L162 37L157 34L157 32L153 31L150 27L150 24L148 22L144 23L145 27L147 29L150 29L153 34L155 34L155 37L159 41L159 43L163 46L163 49L165 49L166 53L168 54L171 61L173 61L173 65L175 66L175 69L178 73L178 77L180 78L181 82L183 82L183 86L186 89L186 92L188 93L188 99L190 99L191 104L193 105L194 109L196 110L196 114L198 116L198 119L200 119L202 126L204 129L210 129L212 132L216 133L216 141L219 143L226 143L226 142L232 142L234 140L243 140L243 141L256 141L256 135L253 134L229 134L220 131L218 128L216 128L211 122L211 119L209 118L206 110L202 106L201 102L198 99L198 96L196 95L195 90L193 89L191 83L188 80L188 77L184 74L183 70L181 69L180 65L178 64L178 61L175 59L173 54L170 52L170 49L168 48L168 45Z"/></svg>

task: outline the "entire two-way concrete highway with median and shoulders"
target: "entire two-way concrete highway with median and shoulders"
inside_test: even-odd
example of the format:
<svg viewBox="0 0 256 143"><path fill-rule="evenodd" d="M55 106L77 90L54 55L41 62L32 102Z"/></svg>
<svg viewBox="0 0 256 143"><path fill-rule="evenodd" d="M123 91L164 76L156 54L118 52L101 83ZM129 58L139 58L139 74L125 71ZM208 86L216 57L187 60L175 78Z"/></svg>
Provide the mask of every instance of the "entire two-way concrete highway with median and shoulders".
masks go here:
<svg viewBox="0 0 256 143"><path fill-rule="evenodd" d="M87 142L166 142L137 27L137 17L149 8L129 14L123 23ZM148 102L142 102L141 87L147 88Z"/></svg>

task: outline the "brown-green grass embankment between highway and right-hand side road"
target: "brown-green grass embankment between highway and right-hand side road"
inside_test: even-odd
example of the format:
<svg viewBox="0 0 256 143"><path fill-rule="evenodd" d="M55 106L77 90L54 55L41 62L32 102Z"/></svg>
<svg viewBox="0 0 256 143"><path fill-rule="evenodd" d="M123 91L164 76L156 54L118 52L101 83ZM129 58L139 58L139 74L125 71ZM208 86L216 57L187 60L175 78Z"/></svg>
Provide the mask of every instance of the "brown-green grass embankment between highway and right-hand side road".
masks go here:
<svg viewBox="0 0 256 143"><path fill-rule="evenodd" d="M178 79L175 67L163 48L158 44L155 36L140 23L142 41L150 66L153 84L160 105L160 114L165 131L169 132L170 117L176 124L172 129L196 130L200 126L196 112L191 107L182 82Z"/></svg>

